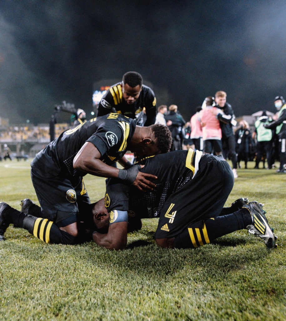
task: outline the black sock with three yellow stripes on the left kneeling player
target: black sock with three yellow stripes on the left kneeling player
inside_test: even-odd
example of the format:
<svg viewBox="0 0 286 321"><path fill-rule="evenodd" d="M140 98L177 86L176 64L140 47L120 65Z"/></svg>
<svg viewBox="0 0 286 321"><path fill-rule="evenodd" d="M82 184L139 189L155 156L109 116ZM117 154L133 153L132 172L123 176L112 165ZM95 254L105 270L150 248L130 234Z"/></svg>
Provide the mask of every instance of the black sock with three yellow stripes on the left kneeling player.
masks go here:
<svg viewBox="0 0 286 321"><path fill-rule="evenodd" d="M29 233L46 243L76 243L76 238L74 236L60 230L54 222L49 221L48 219L25 214L12 207L4 211L2 215L9 224L13 223L15 227L21 227L28 230Z"/></svg>

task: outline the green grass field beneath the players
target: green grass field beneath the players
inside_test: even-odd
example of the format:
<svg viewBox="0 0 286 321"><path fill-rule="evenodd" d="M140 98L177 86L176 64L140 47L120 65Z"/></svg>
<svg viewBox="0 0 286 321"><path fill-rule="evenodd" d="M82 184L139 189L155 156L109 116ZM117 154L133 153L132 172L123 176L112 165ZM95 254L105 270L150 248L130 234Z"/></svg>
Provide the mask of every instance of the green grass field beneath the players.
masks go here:
<svg viewBox="0 0 286 321"><path fill-rule="evenodd" d="M277 249L246 230L195 250L160 249L157 219L143 220L119 252L45 244L10 226L0 242L0 320L286 320L286 175L238 174L226 205L264 203ZM84 181L92 201L104 196L104 179ZM0 162L0 182L0 201L36 201L29 162Z"/></svg>

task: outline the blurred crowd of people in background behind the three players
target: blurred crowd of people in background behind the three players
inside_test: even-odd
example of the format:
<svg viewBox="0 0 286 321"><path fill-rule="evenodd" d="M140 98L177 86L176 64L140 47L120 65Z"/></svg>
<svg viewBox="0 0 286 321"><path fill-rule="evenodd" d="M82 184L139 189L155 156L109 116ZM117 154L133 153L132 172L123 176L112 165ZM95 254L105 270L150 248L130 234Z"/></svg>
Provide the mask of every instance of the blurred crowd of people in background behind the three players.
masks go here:
<svg viewBox="0 0 286 321"><path fill-rule="evenodd" d="M247 121L241 120L239 124L236 123L233 109L226 102L226 93L218 91L215 97L206 97L202 106L197 107L196 113L187 122L176 105L172 104L169 108L166 105L159 106L155 124L169 127L172 134L172 151L193 148L207 154L222 155L225 159L231 160L235 178L237 167L241 168L244 165L247 169L248 161L255 161L255 169L259 168L261 161L262 168L271 169L275 166L275 160L280 160L281 165L277 172L285 173L286 105L283 97L275 98L275 106L277 114L271 117L263 111L255 122L254 130L251 131ZM139 124L144 126L145 109L139 118ZM64 130L85 121L85 112L78 109L77 119L73 124L56 125L55 136L58 137ZM270 127L267 127L268 125ZM44 139L48 142L49 138L47 126L10 126L0 130L0 141L40 142ZM0 160L11 159L11 150L9 149L9 152L7 148L9 149L5 144Z"/></svg>

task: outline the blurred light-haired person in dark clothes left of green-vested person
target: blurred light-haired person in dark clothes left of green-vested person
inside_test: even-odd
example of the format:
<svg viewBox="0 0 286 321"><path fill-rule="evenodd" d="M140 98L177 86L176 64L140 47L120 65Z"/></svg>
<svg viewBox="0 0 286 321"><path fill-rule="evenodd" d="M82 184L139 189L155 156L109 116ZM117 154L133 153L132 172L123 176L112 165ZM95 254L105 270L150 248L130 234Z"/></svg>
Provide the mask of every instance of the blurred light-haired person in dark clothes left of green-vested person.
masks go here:
<svg viewBox="0 0 286 321"><path fill-rule="evenodd" d="M240 161L244 161L245 168L247 168L248 155L252 144L251 133L248 122L241 120L240 127L236 130L234 137L236 142L237 163L240 168Z"/></svg>

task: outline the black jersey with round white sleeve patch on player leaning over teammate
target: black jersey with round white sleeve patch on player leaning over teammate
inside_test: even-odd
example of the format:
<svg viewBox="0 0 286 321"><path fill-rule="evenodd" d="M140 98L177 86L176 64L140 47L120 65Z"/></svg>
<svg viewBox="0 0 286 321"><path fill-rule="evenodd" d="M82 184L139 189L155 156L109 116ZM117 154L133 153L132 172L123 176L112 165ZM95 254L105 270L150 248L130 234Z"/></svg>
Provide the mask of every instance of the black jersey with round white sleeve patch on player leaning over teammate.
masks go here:
<svg viewBox="0 0 286 321"><path fill-rule="evenodd" d="M120 114L93 118L69 129L39 152L32 161L33 170L46 178L59 175L83 176L73 167L73 160L85 142L91 142L100 152L100 160L111 165L121 159L135 132L136 121Z"/></svg>

